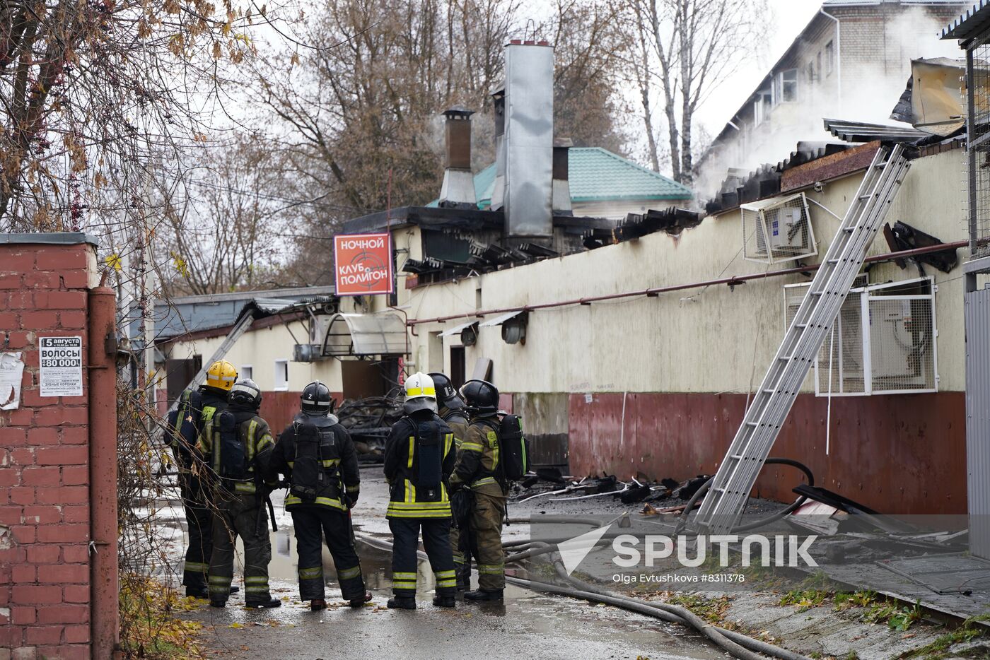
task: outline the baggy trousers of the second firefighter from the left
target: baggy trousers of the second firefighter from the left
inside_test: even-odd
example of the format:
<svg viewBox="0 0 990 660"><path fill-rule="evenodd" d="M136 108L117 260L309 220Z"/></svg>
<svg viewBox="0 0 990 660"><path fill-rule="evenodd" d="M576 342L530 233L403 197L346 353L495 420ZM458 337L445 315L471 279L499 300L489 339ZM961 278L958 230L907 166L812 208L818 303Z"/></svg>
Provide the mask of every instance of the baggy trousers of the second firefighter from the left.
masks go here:
<svg viewBox="0 0 990 660"><path fill-rule="evenodd" d="M268 511L264 501L253 493L232 495L222 490L216 493L209 572L210 600L227 601L230 597L231 582L234 580L234 544L240 536L245 546L245 604L266 602L271 599L268 591L271 541L268 538Z"/></svg>

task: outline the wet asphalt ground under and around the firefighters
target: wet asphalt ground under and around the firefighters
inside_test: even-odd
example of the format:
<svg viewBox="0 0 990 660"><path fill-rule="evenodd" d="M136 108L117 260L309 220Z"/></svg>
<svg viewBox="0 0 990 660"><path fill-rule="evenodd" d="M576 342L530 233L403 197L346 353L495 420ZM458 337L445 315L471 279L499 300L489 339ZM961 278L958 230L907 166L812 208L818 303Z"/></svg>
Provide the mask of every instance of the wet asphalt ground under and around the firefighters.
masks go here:
<svg viewBox="0 0 990 660"><path fill-rule="evenodd" d="M353 512L355 529L391 540L384 512L387 502L379 468L362 470L361 500ZM277 499L276 499L277 498ZM361 566L372 603L352 610L340 600L333 561L324 548L330 608L312 613L296 588L295 537L291 517L273 496L279 530L272 533L269 565L272 595L283 601L274 610L247 610L235 597L225 609L203 602L184 614L201 621L200 639L207 654L229 658L284 660L466 660L469 658L724 658L715 647L684 628L640 614L509 587L503 605L457 602L455 610L435 608L432 574L422 563L418 609L391 611L389 554L358 543ZM512 512L522 515L526 512ZM516 534L525 526L513 525ZM178 544L176 544L178 545ZM240 559L239 559L240 564ZM240 575L239 569L235 572ZM476 577L475 577L476 580ZM237 582L237 579L236 579Z"/></svg>

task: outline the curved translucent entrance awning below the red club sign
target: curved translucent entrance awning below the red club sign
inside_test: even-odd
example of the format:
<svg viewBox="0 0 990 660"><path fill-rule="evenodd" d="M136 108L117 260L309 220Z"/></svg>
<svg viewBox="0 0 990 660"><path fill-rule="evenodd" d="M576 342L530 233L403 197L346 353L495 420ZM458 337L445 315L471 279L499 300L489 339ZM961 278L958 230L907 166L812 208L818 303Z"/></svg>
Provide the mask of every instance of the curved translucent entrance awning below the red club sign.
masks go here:
<svg viewBox="0 0 990 660"><path fill-rule="evenodd" d="M323 340L323 354L333 357L406 355L406 321L395 312L335 314Z"/></svg>

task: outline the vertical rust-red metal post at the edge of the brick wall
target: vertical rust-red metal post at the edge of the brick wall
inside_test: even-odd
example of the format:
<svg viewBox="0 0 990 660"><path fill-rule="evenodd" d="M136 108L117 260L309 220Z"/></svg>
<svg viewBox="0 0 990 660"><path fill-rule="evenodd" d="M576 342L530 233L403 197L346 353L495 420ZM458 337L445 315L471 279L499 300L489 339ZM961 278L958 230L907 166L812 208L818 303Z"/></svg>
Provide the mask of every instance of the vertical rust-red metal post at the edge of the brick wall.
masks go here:
<svg viewBox="0 0 990 660"><path fill-rule="evenodd" d="M89 524L92 657L109 660L119 647L117 574L117 297L89 291Z"/></svg>

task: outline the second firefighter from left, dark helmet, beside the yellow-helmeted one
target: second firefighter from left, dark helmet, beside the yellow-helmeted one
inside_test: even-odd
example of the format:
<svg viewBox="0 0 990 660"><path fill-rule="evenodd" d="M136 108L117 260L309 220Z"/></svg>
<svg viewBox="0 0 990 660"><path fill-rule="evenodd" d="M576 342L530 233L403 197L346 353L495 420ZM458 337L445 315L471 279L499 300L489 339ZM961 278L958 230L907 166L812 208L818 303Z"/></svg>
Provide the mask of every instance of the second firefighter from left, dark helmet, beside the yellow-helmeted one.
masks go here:
<svg viewBox="0 0 990 660"><path fill-rule="evenodd" d="M234 579L234 545L245 548L245 605L277 608L268 591L267 491L262 475L271 472L274 440L268 423L257 416L261 390L251 380L234 384L228 409L214 416L200 433L198 448L214 472L213 554L210 557L210 605L223 608ZM270 503L269 503L270 508Z"/></svg>

